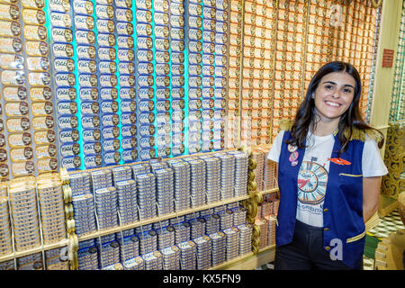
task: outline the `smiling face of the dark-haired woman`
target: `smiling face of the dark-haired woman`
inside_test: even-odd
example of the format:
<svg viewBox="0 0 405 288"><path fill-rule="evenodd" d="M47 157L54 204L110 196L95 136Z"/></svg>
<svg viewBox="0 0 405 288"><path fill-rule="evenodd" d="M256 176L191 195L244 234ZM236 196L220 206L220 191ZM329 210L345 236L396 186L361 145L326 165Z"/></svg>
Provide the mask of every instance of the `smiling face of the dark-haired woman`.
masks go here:
<svg viewBox="0 0 405 288"><path fill-rule="evenodd" d="M321 121L338 121L355 96L356 80L346 72L332 72L320 79L315 90L315 113Z"/></svg>

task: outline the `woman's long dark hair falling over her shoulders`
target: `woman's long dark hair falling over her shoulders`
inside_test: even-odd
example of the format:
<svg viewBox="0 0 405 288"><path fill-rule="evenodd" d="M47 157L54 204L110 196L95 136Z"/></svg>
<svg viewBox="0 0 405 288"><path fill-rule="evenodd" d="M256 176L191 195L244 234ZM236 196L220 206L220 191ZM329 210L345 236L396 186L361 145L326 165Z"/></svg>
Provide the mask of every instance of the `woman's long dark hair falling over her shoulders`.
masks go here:
<svg viewBox="0 0 405 288"><path fill-rule="evenodd" d="M347 74L353 76L356 81L355 86L355 96L352 103L350 103L349 108L340 116L338 123L338 139L342 145L338 154L347 150L347 145L350 138L353 135L353 129L358 130L375 130L373 127L369 126L362 118L359 109L360 96L362 94L362 84L360 80L360 75L353 65L342 62L333 61L320 67L315 76L312 77L310 85L308 85L307 93L302 101L300 107L297 110L295 119L293 121L293 126L291 128L291 135L293 139L287 140L287 144L293 144L298 148L304 148L304 140L307 137L308 131L316 129L317 121L315 118L315 100L311 95L315 92L320 84L320 79L323 76L332 72L346 72ZM383 133L375 130L381 134L381 140L377 143L379 148L383 147Z"/></svg>

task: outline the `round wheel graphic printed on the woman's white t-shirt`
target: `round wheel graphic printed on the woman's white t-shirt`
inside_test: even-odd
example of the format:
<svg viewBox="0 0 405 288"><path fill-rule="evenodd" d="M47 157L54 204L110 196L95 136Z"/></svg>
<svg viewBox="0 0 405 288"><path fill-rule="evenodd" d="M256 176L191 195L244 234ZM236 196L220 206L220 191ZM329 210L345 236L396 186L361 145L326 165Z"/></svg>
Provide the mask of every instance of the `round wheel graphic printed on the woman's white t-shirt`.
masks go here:
<svg viewBox="0 0 405 288"><path fill-rule="evenodd" d="M298 173L298 200L316 205L325 199L328 172L316 162L302 161Z"/></svg>

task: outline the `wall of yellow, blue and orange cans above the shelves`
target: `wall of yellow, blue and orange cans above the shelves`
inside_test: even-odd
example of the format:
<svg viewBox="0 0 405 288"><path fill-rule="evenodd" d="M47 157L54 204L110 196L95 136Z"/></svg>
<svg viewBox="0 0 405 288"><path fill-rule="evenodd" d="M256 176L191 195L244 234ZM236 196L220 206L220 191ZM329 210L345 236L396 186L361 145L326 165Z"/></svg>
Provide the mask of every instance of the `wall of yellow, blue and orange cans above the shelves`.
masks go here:
<svg viewBox="0 0 405 288"><path fill-rule="evenodd" d="M270 144L333 58L358 67L371 109L379 9L369 1L0 8L3 179Z"/></svg>

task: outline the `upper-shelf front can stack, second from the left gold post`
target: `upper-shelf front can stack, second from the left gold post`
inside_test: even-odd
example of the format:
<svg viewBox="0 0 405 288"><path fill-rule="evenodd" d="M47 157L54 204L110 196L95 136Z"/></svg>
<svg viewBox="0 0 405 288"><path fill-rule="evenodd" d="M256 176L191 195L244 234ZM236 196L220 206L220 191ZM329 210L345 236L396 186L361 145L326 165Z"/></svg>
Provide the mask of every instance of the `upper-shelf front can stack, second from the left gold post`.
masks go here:
<svg viewBox="0 0 405 288"><path fill-rule="evenodd" d="M114 187L97 189L94 197L98 229L110 229L118 226L116 189Z"/></svg>

